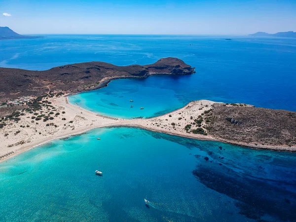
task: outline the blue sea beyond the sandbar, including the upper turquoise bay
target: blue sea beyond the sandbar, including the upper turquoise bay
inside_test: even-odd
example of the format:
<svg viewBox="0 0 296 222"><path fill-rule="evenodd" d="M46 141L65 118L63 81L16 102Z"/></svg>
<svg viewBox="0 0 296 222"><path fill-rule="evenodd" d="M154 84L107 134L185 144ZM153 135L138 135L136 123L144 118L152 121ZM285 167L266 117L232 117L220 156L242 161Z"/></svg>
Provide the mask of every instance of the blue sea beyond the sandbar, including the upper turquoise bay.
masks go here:
<svg viewBox="0 0 296 222"><path fill-rule="evenodd" d="M115 80L109 89L71 99L81 107L113 116L154 116L198 99L296 111L294 38L49 35L0 44L1 67L45 70L88 61L144 65L162 57L178 57L196 68L190 76ZM135 109L129 109L130 99Z"/></svg>

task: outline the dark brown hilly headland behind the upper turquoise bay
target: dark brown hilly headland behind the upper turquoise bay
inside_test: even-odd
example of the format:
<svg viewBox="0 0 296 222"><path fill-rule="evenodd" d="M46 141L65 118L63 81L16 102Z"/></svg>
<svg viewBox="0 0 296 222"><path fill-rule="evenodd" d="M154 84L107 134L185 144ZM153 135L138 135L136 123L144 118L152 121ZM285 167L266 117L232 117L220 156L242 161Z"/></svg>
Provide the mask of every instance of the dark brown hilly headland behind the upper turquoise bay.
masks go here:
<svg viewBox="0 0 296 222"><path fill-rule="evenodd" d="M77 63L45 71L0 68L0 102L48 91L78 93L107 86L116 78L143 78L155 74L192 74L194 68L177 58L150 65L115 66L104 62Z"/></svg>

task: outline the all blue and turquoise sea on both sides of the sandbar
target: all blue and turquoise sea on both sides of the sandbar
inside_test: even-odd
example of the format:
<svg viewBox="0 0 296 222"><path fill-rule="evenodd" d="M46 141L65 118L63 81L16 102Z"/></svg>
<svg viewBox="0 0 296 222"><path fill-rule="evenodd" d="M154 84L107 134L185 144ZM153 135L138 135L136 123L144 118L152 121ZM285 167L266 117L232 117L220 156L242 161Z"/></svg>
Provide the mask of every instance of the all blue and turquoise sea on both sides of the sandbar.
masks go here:
<svg viewBox="0 0 296 222"><path fill-rule="evenodd" d="M49 35L0 41L0 67L29 70L87 61L144 65L162 57L180 58L196 74L114 80L70 102L128 118L198 99L296 111L293 38ZM94 174L99 166L103 177ZM135 128L95 129L0 163L0 221L296 221L295 184L295 153Z"/></svg>

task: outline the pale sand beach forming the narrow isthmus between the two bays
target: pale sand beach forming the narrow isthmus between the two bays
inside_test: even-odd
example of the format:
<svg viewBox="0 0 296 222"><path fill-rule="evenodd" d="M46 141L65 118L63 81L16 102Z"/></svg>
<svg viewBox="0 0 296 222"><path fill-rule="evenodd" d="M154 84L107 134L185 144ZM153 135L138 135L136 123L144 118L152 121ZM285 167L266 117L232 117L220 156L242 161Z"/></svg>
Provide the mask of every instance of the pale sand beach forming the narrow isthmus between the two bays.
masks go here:
<svg viewBox="0 0 296 222"><path fill-rule="evenodd" d="M31 118L33 114L30 113L20 116L21 120L18 123L14 120L7 120L7 125L0 130L0 156L5 155L0 159L0 162L31 148L48 143L51 140L81 134L88 130L101 127L137 127L171 135L199 140L221 141L251 148L296 151L293 147L255 146L252 144L218 140L209 135L188 133L190 130L186 132L185 126L192 124L194 119L204 111L210 110L215 104L213 101L193 101L179 110L153 118L122 119L84 110L68 103L67 96L54 96L47 100L56 108L56 112L60 113L53 120L46 122L42 120L36 121ZM64 118L66 120L63 120ZM174 124L172 125L172 123ZM46 126L46 124L49 124L49 126ZM202 123L201 127L205 127L205 125L206 123Z"/></svg>

